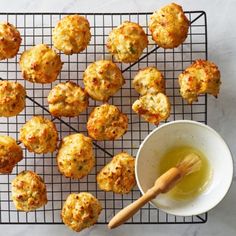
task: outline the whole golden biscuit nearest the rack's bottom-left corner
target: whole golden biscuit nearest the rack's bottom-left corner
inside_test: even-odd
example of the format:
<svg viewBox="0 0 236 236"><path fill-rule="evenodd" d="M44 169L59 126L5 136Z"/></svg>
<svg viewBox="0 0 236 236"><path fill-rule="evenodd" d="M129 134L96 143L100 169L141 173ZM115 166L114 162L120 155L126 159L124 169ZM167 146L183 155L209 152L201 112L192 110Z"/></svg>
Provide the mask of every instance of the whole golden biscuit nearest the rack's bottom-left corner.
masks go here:
<svg viewBox="0 0 236 236"><path fill-rule="evenodd" d="M17 210L33 211L47 204L47 190L43 179L27 170L12 181L12 200Z"/></svg>

